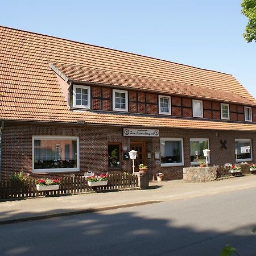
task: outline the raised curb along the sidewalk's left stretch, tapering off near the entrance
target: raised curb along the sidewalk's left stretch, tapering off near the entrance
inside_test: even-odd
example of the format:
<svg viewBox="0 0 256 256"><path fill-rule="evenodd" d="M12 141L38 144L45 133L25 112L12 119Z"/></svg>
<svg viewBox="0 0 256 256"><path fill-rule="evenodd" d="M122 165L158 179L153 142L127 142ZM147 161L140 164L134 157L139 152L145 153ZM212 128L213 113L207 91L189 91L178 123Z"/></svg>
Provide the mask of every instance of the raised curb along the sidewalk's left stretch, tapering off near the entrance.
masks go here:
<svg viewBox="0 0 256 256"><path fill-rule="evenodd" d="M113 205L113 206L110 206L110 207L89 208L89 209L82 209L82 210L73 210L73 211L70 211L70 212L61 212L61 213L53 213L53 214L47 214L47 215L39 215L39 216L34 216L34 217L32 216L32 217L24 217L24 218L14 218L14 219L11 219L11 220L2 220L2 221L0 221L0 225L11 224L11 223L16 223L16 222L31 221L31 220L43 220L45 218L53 218L53 217L59 217L59 216L69 216L69 215L82 214L82 213L102 212L104 210L129 208L129 207L135 207L135 206L139 206L139 205L157 204L157 203L162 203L162 202L163 201L142 201L142 202L139 202L139 203Z"/></svg>

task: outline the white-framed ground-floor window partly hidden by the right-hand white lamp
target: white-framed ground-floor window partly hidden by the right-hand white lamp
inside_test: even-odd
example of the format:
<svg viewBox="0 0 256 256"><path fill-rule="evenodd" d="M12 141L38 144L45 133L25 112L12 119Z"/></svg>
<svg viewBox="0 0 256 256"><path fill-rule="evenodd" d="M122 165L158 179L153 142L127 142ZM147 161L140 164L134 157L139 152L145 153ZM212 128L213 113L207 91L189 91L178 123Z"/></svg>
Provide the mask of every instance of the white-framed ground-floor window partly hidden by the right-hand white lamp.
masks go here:
<svg viewBox="0 0 256 256"><path fill-rule="evenodd" d="M190 161L191 164L198 164L199 160L205 162L205 156L203 150L209 149L209 139L192 138L190 139ZM210 163L210 158L208 158Z"/></svg>

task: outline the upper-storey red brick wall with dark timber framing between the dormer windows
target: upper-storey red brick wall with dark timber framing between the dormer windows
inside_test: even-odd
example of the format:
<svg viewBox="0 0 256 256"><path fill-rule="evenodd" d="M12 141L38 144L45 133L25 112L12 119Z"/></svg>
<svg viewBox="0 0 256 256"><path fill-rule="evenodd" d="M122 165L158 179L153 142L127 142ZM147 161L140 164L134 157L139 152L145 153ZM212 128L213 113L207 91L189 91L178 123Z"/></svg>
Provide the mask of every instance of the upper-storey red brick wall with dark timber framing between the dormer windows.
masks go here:
<svg viewBox="0 0 256 256"><path fill-rule="evenodd" d="M92 86L92 109L112 110L112 90L102 86ZM131 113L159 114L158 94L128 90L128 105ZM204 118L221 119L220 102L203 101ZM175 117L192 117L192 98L171 97L172 115ZM230 120L244 121L244 106L230 104ZM256 122L256 108L253 108L253 121Z"/></svg>

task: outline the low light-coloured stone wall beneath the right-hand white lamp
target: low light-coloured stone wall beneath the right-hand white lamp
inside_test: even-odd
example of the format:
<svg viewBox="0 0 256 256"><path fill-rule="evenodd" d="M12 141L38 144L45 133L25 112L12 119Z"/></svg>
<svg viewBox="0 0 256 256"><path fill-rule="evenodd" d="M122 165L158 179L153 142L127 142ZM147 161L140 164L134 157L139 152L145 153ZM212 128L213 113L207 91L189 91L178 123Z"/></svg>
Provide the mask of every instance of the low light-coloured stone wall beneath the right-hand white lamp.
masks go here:
<svg viewBox="0 0 256 256"><path fill-rule="evenodd" d="M217 167L183 168L183 179L188 182L207 182L216 180Z"/></svg>

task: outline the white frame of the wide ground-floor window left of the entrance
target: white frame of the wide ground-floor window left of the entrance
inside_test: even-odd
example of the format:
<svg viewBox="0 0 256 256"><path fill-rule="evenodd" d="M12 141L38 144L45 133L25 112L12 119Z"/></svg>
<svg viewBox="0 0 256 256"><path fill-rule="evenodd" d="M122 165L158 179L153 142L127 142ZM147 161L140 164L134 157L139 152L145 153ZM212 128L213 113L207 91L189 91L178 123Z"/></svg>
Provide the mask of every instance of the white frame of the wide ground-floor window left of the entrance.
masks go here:
<svg viewBox="0 0 256 256"><path fill-rule="evenodd" d="M54 139L76 139L76 168L49 168L49 169L35 169L35 139L44 139L52 141ZM32 173L40 174L42 172L57 173L57 172L79 172L80 171L80 153L79 153L79 137L68 137L68 136L32 136Z"/></svg>

